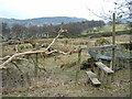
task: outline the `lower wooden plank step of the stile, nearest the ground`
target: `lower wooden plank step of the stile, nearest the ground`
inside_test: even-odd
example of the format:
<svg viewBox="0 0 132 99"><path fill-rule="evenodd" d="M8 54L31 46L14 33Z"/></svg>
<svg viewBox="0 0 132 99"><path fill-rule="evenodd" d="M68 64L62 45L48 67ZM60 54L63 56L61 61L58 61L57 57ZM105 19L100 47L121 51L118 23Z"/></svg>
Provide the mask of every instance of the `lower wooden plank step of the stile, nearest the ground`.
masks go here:
<svg viewBox="0 0 132 99"><path fill-rule="evenodd" d="M90 78L91 82L94 86L100 86L101 82L98 80L97 75L92 72L86 72L86 74L88 75L88 77Z"/></svg>

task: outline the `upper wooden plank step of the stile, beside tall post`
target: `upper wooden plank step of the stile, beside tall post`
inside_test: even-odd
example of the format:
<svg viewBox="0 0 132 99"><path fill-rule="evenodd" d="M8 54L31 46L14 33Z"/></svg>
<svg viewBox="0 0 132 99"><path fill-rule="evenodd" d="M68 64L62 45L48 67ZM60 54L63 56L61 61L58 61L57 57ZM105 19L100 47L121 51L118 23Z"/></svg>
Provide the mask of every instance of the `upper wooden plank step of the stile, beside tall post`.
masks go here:
<svg viewBox="0 0 132 99"><path fill-rule="evenodd" d="M113 74L114 73L112 69L110 69L108 66L106 66L101 62L97 62L96 65L107 74Z"/></svg>

